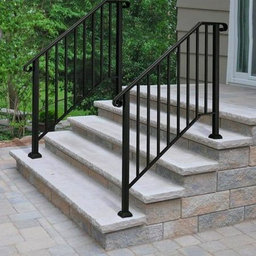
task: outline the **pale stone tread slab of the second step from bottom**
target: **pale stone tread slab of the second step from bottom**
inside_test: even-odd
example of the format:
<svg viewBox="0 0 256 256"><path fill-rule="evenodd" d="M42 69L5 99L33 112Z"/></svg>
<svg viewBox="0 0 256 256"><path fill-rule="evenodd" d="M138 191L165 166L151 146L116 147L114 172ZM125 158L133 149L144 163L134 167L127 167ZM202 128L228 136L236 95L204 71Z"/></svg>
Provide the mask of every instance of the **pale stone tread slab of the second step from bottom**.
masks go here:
<svg viewBox="0 0 256 256"><path fill-rule="evenodd" d="M46 141L85 164L98 174L106 177L114 184L122 184L122 157L113 151L89 141L73 131L56 131L48 133ZM76 146L74 146L76 145ZM136 176L135 164L130 161L130 181ZM131 195L143 203L154 203L179 198L184 193L181 185L171 182L152 171L148 171L142 179L130 189Z"/></svg>

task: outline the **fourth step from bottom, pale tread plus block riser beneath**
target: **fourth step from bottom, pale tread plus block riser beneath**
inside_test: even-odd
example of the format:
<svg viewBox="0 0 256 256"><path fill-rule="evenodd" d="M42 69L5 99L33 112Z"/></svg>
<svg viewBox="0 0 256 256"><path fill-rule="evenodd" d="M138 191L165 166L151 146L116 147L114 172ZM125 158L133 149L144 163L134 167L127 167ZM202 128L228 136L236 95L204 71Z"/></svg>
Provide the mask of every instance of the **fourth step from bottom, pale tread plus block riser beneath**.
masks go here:
<svg viewBox="0 0 256 256"><path fill-rule="evenodd" d="M122 123L122 108L116 108L112 105L112 101L95 101L94 105L98 108L98 114L102 117L111 119L118 123ZM150 110L151 116L151 133L156 134L156 110ZM136 126L137 108L134 103L130 104L131 127ZM176 116L170 115L171 126L170 131L172 137L176 134ZM141 131L146 131L147 109L144 106L140 108ZM199 120L200 121L200 120ZM212 126L197 121L184 135L177 141L179 146L188 148L193 152L218 160L220 169L239 168L247 166L249 162L249 146L253 145L253 138L235 133L226 129L220 129L223 139L210 139L209 134L212 133ZM160 113L160 129L161 137L166 139L166 112ZM186 120L180 117L180 129L186 125Z"/></svg>

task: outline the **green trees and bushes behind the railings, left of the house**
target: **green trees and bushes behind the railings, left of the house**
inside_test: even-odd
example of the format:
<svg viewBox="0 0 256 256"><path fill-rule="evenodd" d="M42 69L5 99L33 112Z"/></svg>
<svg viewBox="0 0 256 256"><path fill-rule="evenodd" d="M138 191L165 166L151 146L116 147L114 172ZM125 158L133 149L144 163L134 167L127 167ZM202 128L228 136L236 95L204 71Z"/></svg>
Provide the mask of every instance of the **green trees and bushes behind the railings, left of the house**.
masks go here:
<svg viewBox="0 0 256 256"><path fill-rule="evenodd" d="M71 27L89 12L100 0L1 0L0 1L0 108L12 108L15 113L31 112L31 73L23 72L23 65L36 53L52 42L58 35ZM129 85L141 72L160 57L176 42L176 0L130 0L129 9L123 10L123 85ZM114 8L113 8L114 9ZM115 12L115 10L114 10ZM108 24L108 10L105 10ZM100 13L96 14L100 15ZM115 15L113 15L114 17ZM97 19L96 19L97 20ZM115 24L115 20L113 20ZM100 22L96 22L96 57L100 58ZM86 43L87 63L91 62L91 25L88 24ZM83 84L82 74L82 26L77 30L77 67L80 76L77 84ZM73 35L68 46L68 106L73 105ZM105 38L108 39L106 25ZM115 29L113 27L113 42ZM105 46L106 47L106 46ZM114 52L113 48L113 52ZM4 54L3 54L4 53ZM115 71L115 56L112 68ZM49 113L55 106L55 49L49 51ZM108 60L108 51L104 54ZM96 63L96 82L100 76L99 63ZM172 74L175 81L175 56L172 58ZM45 113L45 59L40 58L40 116ZM108 63L104 65L104 73ZM86 84L91 84L91 67L86 66ZM162 83L166 83L166 67L161 67ZM59 96L64 90L64 42L59 43ZM151 82L156 82L152 73ZM78 90L79 98L81 90ZM97 91L80 105L83 114L96 114L94 100L107 100L114 96L114 81L103 82ZM59 98L59 116L63 114L63 98ZM25 126L26 119L11 119L11 132L16 126ZM18 122L18 124L16 124ZM24 129L23 129L24 130ZM23 131L24 133L24 131Z"/></svg>

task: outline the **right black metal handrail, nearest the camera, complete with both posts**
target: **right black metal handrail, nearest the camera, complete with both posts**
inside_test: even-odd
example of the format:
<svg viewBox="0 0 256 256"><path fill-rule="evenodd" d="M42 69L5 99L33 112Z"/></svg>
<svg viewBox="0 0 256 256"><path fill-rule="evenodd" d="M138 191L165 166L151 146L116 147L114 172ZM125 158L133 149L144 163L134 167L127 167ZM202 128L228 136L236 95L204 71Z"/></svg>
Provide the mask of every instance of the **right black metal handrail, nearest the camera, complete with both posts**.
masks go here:
<svg viewBox="0 0 256 256"><path fill-rule="evenodd" d="M199 29L201 26L205 28L205 43L204 43L204 113L199 113ZM212 53L212 89L213 89L213 106L212 112L208 112L208 34L209 26L213 28L213 53ZM221 27L222 26L222 27ZM146 172L156 163L157 160L179 139L185 132L203 115L212 115L212 134L209 138L221 139L219 134L219 76L220 76L220 31L228 30L228 25L225 23L217 22L199 22L193 27L183 38L181 38L173 47L168 49L158 60L155 61L150 67L146 69L137 79L135 79L129 86L127 86L121 93L119 93L113 100L113 105L117 107L123 107L123 139L122 139L122 210L118 213L119 216L131 217L133 214L129 211L129 189L144 175ZM191 74L191 35L196 32L196 53L195 53L195 118L190 118L190 74ZM187 90L186 90L186 126L180 129L180 63L181 63L181 44L186 42L186 74L187 74ZM176 82L177 82L177 101L176 101L176 135L171 139L170 131L170 94L171 94L171 54L176 53L177 56L177 67L176 67ZM167 128L166 128L166 147L160 150L160 82L161 73L160 65L167 61ZM150 78L152 72L156 69L157 73L157 121L156 121L156 156L152 159L150 157ZM140 86L142 80L146 79L147 86L147 122L146 122L146 167L140 171ZM136 119L136 130L137 130L137 154L136 154L136 177L130 182L130 91L137 86L137 119Z"/></svg>

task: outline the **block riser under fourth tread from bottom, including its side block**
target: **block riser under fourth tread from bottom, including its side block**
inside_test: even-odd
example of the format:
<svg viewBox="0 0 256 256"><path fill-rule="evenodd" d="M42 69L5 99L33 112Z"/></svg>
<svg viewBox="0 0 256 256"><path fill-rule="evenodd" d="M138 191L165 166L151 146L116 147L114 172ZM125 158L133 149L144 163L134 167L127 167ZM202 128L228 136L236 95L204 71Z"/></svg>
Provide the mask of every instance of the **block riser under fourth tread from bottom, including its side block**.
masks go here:
<svg viewBox="0 0 256 256"><path fill-rule="evenodd" d="M102 117L109 118L112 121L122 123L122 116L110 113L106 110L99 109L98 114ZM130 121L130 127L135 129L137 122L132 120ZM141 132L146 133L146 125L141 123ZM160 138L166 140L166 130L165 127L161 127ZM151 126L151 135L156 136L156 128ZM171 138L174 138L175 135L172 134ZM207 145L197 143L187 138L180 138L177 142L177 145L188 148L194 152L197 152L201 155L206 156L207 158L217 160L220 163L219 170L226 170L230 168L240 168L248 166L249 164L249 147L234 147L228 149L217 150L216 148L209 147Z"/></svg>

